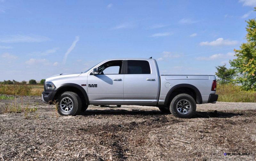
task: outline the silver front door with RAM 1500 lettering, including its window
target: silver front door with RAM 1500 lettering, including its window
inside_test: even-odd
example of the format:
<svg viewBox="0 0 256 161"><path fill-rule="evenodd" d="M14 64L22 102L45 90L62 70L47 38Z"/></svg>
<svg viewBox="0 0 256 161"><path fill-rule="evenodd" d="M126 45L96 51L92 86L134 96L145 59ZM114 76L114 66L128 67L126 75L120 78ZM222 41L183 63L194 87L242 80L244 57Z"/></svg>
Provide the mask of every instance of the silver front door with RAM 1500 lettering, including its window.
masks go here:
<svg viewBox="0 0 256 161"><path fill-rule="evenodd" d="M100 73L88 75L87 88L90 104L108 105L124 101L123 60L108 61L99 66Z"/></svg>

